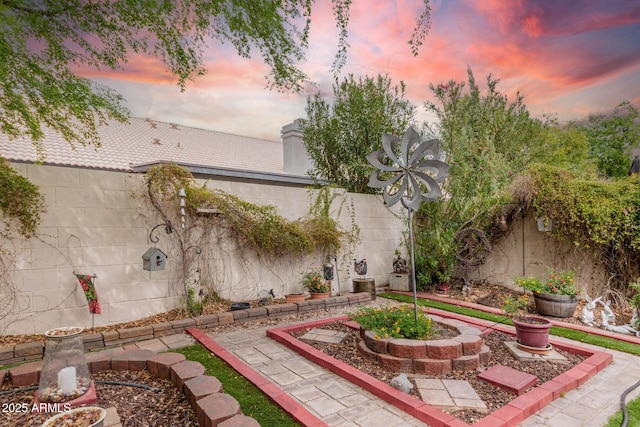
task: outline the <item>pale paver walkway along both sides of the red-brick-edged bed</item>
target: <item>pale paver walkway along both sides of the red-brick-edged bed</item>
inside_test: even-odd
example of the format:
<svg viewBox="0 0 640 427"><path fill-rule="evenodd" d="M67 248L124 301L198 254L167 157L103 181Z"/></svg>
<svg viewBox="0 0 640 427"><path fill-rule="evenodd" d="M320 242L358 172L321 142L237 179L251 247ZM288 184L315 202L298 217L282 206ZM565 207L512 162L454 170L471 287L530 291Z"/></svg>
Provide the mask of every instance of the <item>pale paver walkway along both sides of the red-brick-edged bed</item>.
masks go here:
<svg viewBox="0 0 640 427"><path fill-rule="evenodd" d="M310 362L284 345L266 337L266 329L210 333L222 351L237 357L247 368L260 374L309 413L317 417L304 425L423 426L426 425L395 406L374 396L332 372ZM575 390L556 399L519 423L523 427L602 426L620 409L620 395L640 380L640 358L554 337L573 345L605 351L613 362ZM640 396L640 388L627 400ZM466 425L456 423L451 425ZM480 424L478 424L480 425ZM493 425L493 424L492 424Z"/></svg>

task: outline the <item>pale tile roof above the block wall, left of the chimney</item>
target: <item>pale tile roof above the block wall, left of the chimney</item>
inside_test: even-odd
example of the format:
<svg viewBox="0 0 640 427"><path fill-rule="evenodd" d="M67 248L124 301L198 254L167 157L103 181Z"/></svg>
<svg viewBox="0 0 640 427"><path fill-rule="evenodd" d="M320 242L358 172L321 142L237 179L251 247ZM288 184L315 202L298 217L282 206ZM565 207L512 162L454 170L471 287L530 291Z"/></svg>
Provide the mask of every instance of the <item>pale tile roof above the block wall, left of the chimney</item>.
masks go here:
<svg viewBox="0 0 640 427"><path fill-rule="evenodd" d="M282 142L196 129L150 119L131 118L98 130L101 147L76 146L60 134L47 132L44 164L131 171L134 165L155 161L191 163L219 168L283 173ZM0 156L34 162L29 139L9 140L0 133Z"/></svg>

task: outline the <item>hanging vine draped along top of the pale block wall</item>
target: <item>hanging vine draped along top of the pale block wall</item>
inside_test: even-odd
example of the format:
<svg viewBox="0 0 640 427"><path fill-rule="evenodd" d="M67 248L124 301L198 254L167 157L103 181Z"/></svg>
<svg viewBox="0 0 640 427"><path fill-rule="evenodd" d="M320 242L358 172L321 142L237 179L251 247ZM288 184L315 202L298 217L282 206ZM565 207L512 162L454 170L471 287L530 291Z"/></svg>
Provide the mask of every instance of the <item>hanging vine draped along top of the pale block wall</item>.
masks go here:
<svg viewBox="0 0 640 427"><path fill-rule="evenodd" d="M353 248L359 241L353 205L346 203L344 193L331 188L310 190L312 200L308 213L303 218L291 221L279 215L274 206L257 205L225 191L209 189L206 183L197 184L188 170L175 164L163 164L150 169L145 180L150 202L164 221L164 224L156 227L168 224L174 236L172 239L181 250L189 245L189 241L206 241L201 243L206 251L212 243L207 241L205 235L214 229L225 230L225 235L235 240L238 247L252 250L257 256L272 261L287 256L302 259L317 252L323 256L325 252L335 254L345 244ZM184 189L186 201L184 209L188 226L185 229L176 228L172 219L177 216L180 189ZM340 196L341 203L332 209L332 203ZM175 206L175 210L167 208L170 205ZM345 208L351 217L348 229L343 229L335 219L342 215ZM202 209L215 212L215 215L198 215ZM183 266L183 269L186 268ZM184 295L187 303L190 301L188 292L186 286Z"/></svg>

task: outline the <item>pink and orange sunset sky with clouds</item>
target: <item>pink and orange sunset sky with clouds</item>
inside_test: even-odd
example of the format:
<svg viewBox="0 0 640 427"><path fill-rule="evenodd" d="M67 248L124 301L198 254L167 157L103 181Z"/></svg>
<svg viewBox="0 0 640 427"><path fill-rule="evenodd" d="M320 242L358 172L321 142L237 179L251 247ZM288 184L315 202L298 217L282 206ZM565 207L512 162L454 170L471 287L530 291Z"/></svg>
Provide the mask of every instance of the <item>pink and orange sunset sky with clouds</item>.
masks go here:
<svg viewBox="0 0 640 427"><path fill-rule="evenodd" d="M422 7L420 0L354 0L342 77L404 81L420 121L432 121L422 107L432 99L429 84L465 81L467 67L479 82L488 74L500 79L498 89L511 99L522 93L534 116L567 121L640 103L638 1L432 0L431 31L413 57L407 42ZM330 99L337 36L330 1L318 0L300 64L317 86L302 94L266 89L259 53L242 59L215 42L207 74L183 93L152 59L88 76L122 93L134 116L278 141L283 125L305 117L309 94Z"/></svg>

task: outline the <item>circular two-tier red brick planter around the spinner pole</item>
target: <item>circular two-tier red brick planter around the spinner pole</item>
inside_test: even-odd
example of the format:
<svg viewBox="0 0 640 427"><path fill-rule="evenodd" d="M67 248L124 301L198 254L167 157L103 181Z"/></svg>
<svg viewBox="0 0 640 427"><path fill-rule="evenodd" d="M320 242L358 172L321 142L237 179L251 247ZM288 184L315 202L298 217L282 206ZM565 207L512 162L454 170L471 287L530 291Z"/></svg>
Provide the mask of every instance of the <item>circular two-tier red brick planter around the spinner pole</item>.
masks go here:
<svg viewBox="0 0 640 427"><path fill-rule="evenodd" d="M376 338L371 331L360 330L358 353L377 361L386 369L440 375L452 371L476 371L489 360L489 348L480 329L459 320L431 316L438 325L457 330L459 335L442 340Z"/></svg>

